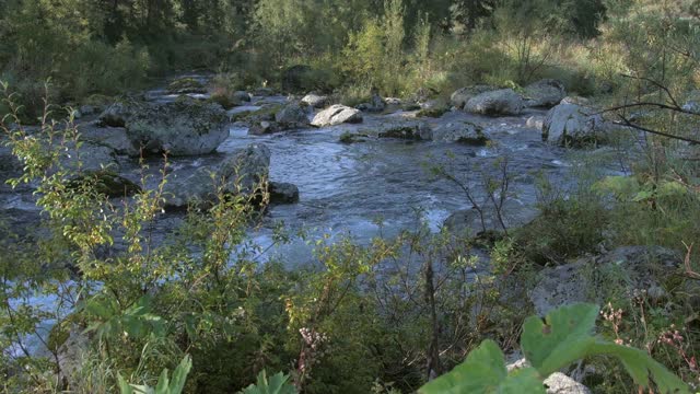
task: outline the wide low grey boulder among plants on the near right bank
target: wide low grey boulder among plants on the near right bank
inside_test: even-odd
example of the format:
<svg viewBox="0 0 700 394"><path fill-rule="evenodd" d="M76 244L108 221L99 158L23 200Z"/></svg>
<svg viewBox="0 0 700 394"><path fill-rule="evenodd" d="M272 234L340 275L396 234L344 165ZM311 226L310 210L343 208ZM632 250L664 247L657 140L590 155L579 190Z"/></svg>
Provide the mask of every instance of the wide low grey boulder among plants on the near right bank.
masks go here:
<svg viewBox="0 0 700 394"><path fill-rule="evenodd" d="M673 275L682 260L674 251L660 246L625 246L599 256L579 260L539 273L540 280L529 294L535 311L545 316L549 311L575 302L600 302L598 289L620 289L631 293L644 291L663 297L664 276ZM619 278L619 283L603 283Z"/></svg>

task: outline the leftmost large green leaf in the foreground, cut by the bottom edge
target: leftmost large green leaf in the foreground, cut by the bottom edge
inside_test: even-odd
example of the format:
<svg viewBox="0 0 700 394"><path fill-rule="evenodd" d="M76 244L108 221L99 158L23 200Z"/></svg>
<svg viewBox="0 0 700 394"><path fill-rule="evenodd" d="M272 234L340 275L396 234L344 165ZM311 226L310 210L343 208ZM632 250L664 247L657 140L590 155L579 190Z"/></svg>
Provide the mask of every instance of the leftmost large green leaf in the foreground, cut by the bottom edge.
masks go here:
<svg viewBox="0 0 700 394"><path fill-rule="evenodd" d="M485 340L451 372L429 382L421 394L458 393L545 393L537 372L532 369L512 375L505 369L503 352L492 340Z"/></svg>

